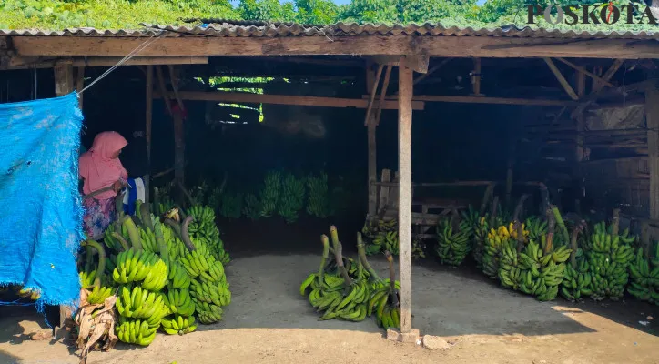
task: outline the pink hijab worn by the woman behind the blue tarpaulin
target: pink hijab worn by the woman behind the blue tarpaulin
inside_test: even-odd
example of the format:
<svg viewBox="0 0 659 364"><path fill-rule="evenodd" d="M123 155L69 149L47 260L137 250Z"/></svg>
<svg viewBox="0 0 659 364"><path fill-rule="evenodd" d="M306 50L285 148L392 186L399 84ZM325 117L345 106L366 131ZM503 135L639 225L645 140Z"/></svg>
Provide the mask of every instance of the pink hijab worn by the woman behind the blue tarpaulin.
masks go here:
<svg viewBox="0 0 659 364"><path fill-rule="evenodd" d="M92 147L80 156L79 175L85 179L83 193L90 194L104 187L112 186L119 179L126 181L128 172L121 165L117 152L128 142L116 131L105 131L94 138ZM106 191L94 198L103 200L117 196L115 191Z"/></svg>

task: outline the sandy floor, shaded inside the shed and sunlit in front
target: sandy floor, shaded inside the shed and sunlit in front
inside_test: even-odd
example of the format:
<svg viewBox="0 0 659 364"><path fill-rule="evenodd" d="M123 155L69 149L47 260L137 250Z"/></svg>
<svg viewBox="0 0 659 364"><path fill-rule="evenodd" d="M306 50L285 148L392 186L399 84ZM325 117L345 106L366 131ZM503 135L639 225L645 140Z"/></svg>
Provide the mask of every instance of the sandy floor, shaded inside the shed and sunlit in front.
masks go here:
<svg viewBox="0 0 659 364"><path fill-rule="evenodd" d="M659 313L653 306L540 303L428 264L413 268L414 327L448 340L451 349L387 341L372 319L319 322L298 292L318 263L317 256L235 259L227 269L233 302L221 323L183 337L159 335L147 348L95 352L89 363L659 363L654 321L638 323ZM374 266L385 268L381 261ZM26 339L36 328L34 314L1 316L0 363L77 362L61 343Z"/></svg>

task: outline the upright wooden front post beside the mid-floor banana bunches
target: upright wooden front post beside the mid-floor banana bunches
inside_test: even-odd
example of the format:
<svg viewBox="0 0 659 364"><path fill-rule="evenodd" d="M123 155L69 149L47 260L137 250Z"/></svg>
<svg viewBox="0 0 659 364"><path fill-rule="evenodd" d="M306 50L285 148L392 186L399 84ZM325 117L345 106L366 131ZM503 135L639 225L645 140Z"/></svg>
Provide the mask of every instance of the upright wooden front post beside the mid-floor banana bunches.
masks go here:
<svg viewBox="0 0 659 364"><path fill-rule="evenodd" d="M411 100L412 70L400 58L398 76L398 170L400 173L398 226L400 264L400 332L411 325Z"/></svg>

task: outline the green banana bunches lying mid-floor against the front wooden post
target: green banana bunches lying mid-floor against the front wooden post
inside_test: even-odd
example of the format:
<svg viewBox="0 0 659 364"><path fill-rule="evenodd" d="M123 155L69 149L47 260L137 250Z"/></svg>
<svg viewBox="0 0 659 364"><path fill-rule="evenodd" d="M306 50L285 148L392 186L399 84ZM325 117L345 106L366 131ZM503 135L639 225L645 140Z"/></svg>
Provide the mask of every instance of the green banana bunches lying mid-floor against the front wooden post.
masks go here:
<svg viewBox="0 0 659 364"><path fill-rule="evenodd" d="M375 314L384 329L400 328L399 289L393 269L393 257L386 252L390 278L380 279L366 258L358 233L358 258L344 258L336 227L330 227L330 238L321 237L322 258L318 272L309 274L299 293L319 312L320 320L342 319L362 321Z"/></svg>

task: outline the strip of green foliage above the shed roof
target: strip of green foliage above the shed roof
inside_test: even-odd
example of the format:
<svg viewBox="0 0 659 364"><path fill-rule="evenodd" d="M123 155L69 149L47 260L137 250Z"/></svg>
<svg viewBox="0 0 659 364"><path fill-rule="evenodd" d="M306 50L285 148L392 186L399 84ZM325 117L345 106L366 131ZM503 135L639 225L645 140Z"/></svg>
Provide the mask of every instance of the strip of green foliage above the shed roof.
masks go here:
<svg viewBox="0 0 659 364"><path fill-rule="evenodd" d="M644 7L642 0L633 0ZM67 27L140 28L141 23L182 25L185 18L225 18L328 25L339 21L365 23L441 23L473 28L526 24L528 5L606 5L601 0L352 0L338 6L331 0L0 0L0 28L61 30ZM617 4L617 5L623 5ZM626 3L624 4L626 5ZM641 14L634 15L636 21ZM532 28L574 31L649 30L653 25L552 25L542 16Z"/></svg>

